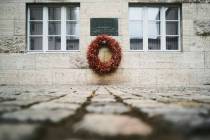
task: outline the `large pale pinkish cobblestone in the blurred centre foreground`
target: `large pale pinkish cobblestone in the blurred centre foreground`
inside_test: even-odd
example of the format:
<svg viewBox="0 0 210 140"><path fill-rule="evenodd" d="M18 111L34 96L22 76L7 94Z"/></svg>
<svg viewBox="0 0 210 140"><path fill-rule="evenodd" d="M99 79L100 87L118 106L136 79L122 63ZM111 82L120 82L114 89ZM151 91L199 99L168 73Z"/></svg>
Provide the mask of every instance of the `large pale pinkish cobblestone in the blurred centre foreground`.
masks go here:
<svg viewBox="0 0 210 140"><path fill-rule="evenodd" d="M111 123L110 123L111 122ZM94 125L97 124L97 125ZM99 135L142 135L151 134L152 128L143 121L120 115L88 114L74 126L76 131L85 130Z"/></svg>

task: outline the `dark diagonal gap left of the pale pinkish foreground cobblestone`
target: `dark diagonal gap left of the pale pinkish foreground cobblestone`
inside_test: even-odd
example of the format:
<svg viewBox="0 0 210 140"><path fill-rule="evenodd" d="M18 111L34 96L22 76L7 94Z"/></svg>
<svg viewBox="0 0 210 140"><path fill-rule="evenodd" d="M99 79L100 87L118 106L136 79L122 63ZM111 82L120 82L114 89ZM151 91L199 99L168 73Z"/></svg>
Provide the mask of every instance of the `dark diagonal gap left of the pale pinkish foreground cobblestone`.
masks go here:
<svg viewBox="0 0 210 140"><path fill-rule="evenodd" d="M98 89L98 88L97 88ZM40 140L67 140L69 138L86 138L89 134L87 133L75 133L73 126L82 120L87 114L86 106L91 103L91 99L95 96L95 89L86 101L76 110L75 114L62 120L58 124L48 123L43 128L43 131L39 134Z"/></svg>

